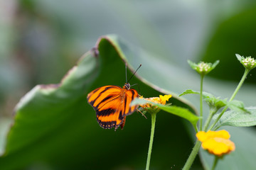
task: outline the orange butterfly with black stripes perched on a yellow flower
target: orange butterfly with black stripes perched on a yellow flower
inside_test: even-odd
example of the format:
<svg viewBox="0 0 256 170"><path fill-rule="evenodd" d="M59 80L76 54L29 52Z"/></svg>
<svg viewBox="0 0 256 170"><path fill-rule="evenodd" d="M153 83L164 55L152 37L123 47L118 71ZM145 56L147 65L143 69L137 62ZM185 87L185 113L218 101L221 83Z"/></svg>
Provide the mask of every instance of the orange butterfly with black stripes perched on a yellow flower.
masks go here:
<svg viewBox="0 0 256 170"><path fill-rule="evenodd" d="M139 67L141 66L142 64ZM111 129L114 127L114 130L117 130L121 126L123 129L126 116L137 110L138 105L130 106L130 104L139 94L135 89L130 89L131 85L128 82L122 88L119 86L102 86L87 95L87 101L95 109L97 122L102 128Z"/></svg>

